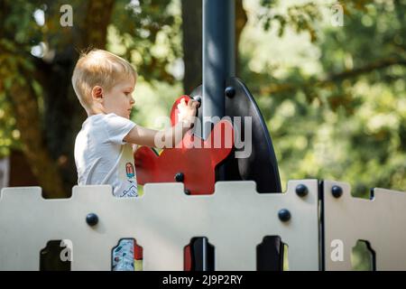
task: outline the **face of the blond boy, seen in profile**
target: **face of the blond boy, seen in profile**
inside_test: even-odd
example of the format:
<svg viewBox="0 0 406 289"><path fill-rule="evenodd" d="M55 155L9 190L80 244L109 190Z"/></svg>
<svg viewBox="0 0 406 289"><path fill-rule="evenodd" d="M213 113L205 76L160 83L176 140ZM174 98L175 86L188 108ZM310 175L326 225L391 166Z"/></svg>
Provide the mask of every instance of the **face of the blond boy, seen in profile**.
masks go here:
<svg viewBox="0 0 406 289"><path fill-rule="evenodd" d="M104 93L104 103L106 114L130 118L131 109L134 106L134 79L123 79L115 84L109 91Z"/></svg>

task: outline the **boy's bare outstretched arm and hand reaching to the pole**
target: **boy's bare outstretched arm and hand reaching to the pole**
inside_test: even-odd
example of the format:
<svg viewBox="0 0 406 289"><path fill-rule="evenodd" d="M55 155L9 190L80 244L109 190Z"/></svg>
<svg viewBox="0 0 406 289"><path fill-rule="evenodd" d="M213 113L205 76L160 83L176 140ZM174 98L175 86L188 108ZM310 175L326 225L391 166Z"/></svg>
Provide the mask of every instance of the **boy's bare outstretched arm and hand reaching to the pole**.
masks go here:
<svg viewBox="0 0 406 289"><path fill-rule="evenodd" d="M184 99L178 107L180 110L179 122L175 126L172 126L166 130L154 130L143 126L134 126L134 128L125 135L124 141L130 144L146 145L158 148L175 147L178 135L178 139L183 137L185 133L191 128L193 124L193 117L196 115L196 108L198 107L198 101L190 99L188 104L185 104ZM155 142L155 140L159 140ZM169 142L171 140L171 142ZM170 144L168 147L165 144Z"/></svg>

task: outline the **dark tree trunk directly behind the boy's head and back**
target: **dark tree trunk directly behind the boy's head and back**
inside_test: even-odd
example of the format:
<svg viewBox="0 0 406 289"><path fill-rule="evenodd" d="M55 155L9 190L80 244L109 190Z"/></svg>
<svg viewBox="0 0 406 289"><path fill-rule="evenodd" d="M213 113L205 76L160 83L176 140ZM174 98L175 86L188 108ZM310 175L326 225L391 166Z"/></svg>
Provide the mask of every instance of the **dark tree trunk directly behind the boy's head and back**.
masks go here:
<svg viewBox="0 0 406 289"><path fill-rule="evenodd" d="M51 156L60 166L60 173L67 190L78 183L74 162L75 138L86 112L80 106L71 85L74 65L78 60L78 51L88 48L106 49L107 25L115 1L92 0L88 2L86 17L75 15L72 27L72 44L56 51L46 81L44 123L47 144ZM73 36L74 35L74 36Z"/></svg>

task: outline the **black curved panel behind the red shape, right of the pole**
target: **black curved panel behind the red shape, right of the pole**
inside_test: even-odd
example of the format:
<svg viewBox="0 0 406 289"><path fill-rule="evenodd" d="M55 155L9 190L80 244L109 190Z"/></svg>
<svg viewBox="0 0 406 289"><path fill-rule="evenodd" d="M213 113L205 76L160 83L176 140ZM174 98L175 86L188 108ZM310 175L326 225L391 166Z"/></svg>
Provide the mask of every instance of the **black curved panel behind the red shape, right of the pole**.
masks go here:
<svg viewBox="0 0 406 289"><path fill-rule="evenodd" d="M191 98L201 99L202 87L194 89L190 93ZM272 138L259 110L254 96L245 86L242 80L237 78L226 79L225 91L225 116L234 121L234 117L240 117L241 131L238 137L245 135L245 117L249 117L252 125L251 149L253 154L246 157L235 158L232 152L225 163L220 166L225 168L224 180L222 181L254 181L259 192L281 192L281 180L278 171L278 163L273 150ZM203 100L202 100L203 101ZM200 123L203 119L203 108L198 107ZM201 130L194 131L201 136ZM242 151L236 149L236 151Z"/></svg>

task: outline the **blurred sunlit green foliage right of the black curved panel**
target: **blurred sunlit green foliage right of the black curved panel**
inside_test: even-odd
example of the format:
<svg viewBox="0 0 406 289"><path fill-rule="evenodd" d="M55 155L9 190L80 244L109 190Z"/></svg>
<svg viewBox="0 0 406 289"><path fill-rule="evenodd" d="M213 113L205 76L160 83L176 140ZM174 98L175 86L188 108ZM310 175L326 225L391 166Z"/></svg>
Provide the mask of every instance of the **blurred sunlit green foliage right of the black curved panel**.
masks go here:
<svg viewBox="0 0 406 289"><path fill-rule="evenodd" d="M370 186L405 191L406 1L341 1L342 27L330 23L334 2L290 3L261 1L258 23L281 37L307 35L317 69L275 60L253 72L252 55L242 55L283 182L332 178L364 197Z"/></svg>

